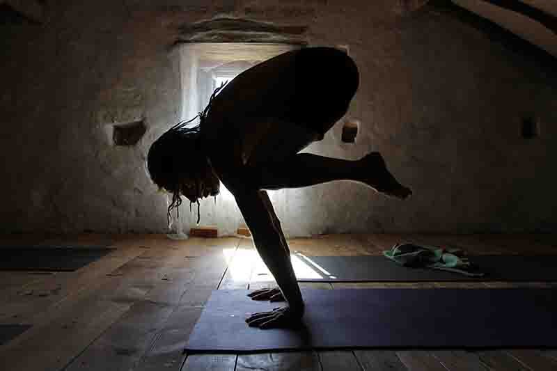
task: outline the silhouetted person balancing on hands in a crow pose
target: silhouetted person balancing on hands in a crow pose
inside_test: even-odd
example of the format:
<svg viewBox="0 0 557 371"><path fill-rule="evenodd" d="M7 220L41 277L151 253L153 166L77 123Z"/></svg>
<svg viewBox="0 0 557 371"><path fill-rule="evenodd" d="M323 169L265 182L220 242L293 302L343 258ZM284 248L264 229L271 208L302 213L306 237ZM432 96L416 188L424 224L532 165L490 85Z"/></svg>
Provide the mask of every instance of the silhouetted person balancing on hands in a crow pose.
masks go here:
<svg viewBox="0 0 557 371"><path fill-rule="evenodd" d="M354 180L396 198L407 198L378 152L348 161L299 153L348 109L359 74L347 54L312 47L281 54L239 74L217 90L199 117L175 125L152 144L148 170L173 194L168 214L185 196L191 203L219 193L234 195L253 242L278 287L250 294L256 300L286 299L288 306L256 313L246 322L262 329L297 324L304 314L290 251L266 189L307 187ZM220 182L219 182L220 180Z"/></svg>

